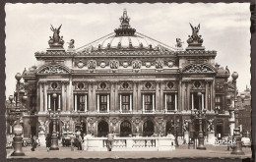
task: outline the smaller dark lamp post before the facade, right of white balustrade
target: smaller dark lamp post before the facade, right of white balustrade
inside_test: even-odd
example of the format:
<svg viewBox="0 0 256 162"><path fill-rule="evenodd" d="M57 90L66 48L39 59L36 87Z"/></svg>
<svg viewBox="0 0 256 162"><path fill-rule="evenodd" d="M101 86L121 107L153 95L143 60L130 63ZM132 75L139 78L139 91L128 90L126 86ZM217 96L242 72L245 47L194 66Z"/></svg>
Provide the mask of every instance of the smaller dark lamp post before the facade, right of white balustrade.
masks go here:
<svg viewBox="0 0 256 162"><path fill-rule="evenodd" d="M206 109L202 110L202 105L201 105L201 97L202 93L198 92L197 96L199 97L199 110L195 110L195 113L197 113L197 118L199 122L199 133L198 133L198 146L197 149L206 149L205 144L204 144L204 135L203 135L203 112L204 115L206 113Z"/></svg>

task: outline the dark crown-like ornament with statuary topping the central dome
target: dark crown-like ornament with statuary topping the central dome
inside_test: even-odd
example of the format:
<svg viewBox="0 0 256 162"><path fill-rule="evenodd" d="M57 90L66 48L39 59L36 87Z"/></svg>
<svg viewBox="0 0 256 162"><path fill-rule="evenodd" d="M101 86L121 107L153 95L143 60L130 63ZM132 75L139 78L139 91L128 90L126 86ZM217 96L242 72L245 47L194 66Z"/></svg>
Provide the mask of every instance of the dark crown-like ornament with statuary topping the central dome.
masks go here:
<svg viewBox="0 0 256 162"><path fill-rule="evenodd" d="M115 28L115 35L116 36L131 36L134 35L136 29L130 27L130 18L127 15L127 11L126 9L124 9L123 11L123 16L121 16L120 20L120 27L119 28Z"/></svg>

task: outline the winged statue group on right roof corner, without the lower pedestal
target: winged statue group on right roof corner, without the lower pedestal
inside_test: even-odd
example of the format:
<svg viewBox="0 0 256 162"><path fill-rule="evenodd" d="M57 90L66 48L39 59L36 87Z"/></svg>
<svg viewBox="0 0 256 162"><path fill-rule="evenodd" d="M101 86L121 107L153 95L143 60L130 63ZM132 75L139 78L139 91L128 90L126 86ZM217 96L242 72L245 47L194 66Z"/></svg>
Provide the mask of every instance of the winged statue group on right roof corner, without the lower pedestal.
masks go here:
<svg viewBox="0 0 256 162"><path fill-rule="evenodd" d="M190 27L192 28L192 35L188 35L188 44L189 46L202 46L203 39L202 35L199 35L199 29L200 29L200 24L198 27L193 27L191 24L189 24Z"/></svg>

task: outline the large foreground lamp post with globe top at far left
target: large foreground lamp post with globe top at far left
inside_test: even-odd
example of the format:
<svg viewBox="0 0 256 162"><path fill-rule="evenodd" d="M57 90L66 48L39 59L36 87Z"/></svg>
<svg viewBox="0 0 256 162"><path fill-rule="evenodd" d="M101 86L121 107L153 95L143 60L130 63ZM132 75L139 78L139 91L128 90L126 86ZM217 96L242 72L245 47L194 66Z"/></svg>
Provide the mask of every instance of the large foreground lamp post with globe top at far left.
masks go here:
<svg viewBox="0 0 256 162"><path fill-rule="evenodd" d="M22 75L20 73L17 73L15 76L15 79L17 80L17 85L16 85L16 106L14 109L11 109L10 111L16 114L16 125L14 126L14 138L13 138L13 147L14 151L11 154L11 156L25 156L25 153L23 152L22 149L22 143L23 143L23 127L20 124L20 114L22 112L25 112L26 109L21 109L20 107L20 81L22 79ZM13 96L9 96L9 99L13 100ZM27 100L27 97L24 97L24 100Z"/></svg>

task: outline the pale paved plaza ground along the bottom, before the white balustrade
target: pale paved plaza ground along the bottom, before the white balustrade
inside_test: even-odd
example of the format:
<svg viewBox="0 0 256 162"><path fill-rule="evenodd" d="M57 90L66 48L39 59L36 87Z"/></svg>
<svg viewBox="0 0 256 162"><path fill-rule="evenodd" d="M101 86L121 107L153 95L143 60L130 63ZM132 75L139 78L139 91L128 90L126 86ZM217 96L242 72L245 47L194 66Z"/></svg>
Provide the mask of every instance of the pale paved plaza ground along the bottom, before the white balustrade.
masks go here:
<svg viewBox="0 0 256 162"><path fill-rule="evenodd" d="M181 145L173 151L71 151L70 147L60 146L60 150L47 152L46 148L39 146L35 151L31 147L24 147L26 156L10 156L12 149L7 149L7 158L248 158L251 157L251 148L243 148L245 155L231 155L226 146L206 145L207 150L188 149Z"/></svg>

